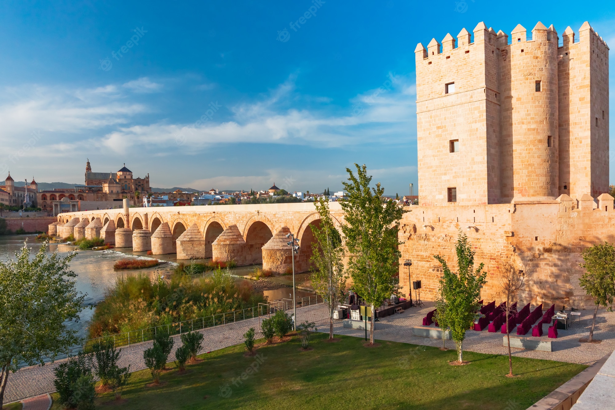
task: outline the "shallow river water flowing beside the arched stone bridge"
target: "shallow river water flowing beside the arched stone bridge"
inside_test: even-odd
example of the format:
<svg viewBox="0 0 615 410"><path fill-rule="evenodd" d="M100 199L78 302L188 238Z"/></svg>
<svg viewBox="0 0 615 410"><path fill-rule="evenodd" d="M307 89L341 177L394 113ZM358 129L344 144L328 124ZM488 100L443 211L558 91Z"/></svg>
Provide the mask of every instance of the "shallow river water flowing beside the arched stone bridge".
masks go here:
<svg viewBox="0 0 615 410"><path fill-rule="evenodd" d="M0 236L0 260L15 259L15 252L19 251L23 247L24 241L28 240L28 247L32 248L30 255L36 254L41 247L41 243L37 243L34 239L36 235L10 235ZM59 255L68 255L69 252L77 249L76 246L69 244L49 244L49 252L58 251ZM127 251L129 249L126 249ZM120 259L126 257L143 257L145 252L133 253L133 252L118 252L114 250L108 251L79 251L70 263L71 270L77 274L76 286L79 292L85 295L85 304L92 307L98 302L105 299L106 289L113 287L116 282L116 278L122 275L131 273L137 273L137 271L116 271L113 269L113 265ZM177 260L174 259L175 255L161 255L160 260L163 262L154 268L143 269L143 273L148 275L169 275L169 273L175 268ZM253 267L237 267L231 271L233 275L243 276L248 275L252 271ZM239 278L238 278L239 279ZM287 284L290 277L285 276L279 278L280 283ZM288 283L290 284L290 283ZM264 295L268 296L269 300L279 299L280 297L288 297L292 292L292 289L282 288L271 291L264 291ZM312 292L296 291L296 297L313 295ZM70 323L69 328L76 329L79 336L87 337L87 327L89 326L89 320L94 313L93 308L85 308L80 316L80 320L77 323Z"/></svg>

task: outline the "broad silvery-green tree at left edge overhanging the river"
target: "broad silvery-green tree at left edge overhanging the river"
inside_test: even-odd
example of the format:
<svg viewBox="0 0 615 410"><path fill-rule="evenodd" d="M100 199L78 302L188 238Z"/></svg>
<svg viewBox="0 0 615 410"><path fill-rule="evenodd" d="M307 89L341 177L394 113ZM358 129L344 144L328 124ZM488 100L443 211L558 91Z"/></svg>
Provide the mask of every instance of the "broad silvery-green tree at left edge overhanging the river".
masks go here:
<svg viewBox="0 0 615 410"><path fill-rule="evenodd" d="M46 242L31 258L27 245L14 260L0 261L0 408L10 371L42 365L46 356L54 360L81 342L68 328L84 307L68 266L76 252L49 255Z"/></svg>

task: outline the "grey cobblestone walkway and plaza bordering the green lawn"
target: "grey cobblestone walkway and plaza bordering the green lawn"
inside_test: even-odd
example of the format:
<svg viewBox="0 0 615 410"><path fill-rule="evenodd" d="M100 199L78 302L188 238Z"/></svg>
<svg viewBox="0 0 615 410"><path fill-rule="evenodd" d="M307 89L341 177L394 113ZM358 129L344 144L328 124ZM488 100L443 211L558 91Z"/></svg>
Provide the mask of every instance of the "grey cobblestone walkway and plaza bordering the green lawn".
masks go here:
<svg viewBox="0 0 615 410"><path fill-rule="evenodd" d="M432 309L432 303L427 302L423 308L410 308L400 315L381 318L381 320L376 323L376 339L434 347L442 346L441 339L429 339L412 335L412 327L421 325L423 316ZM568 330L558 331L559 337L553 341L554 352L512 348L512 354L519 357L593 364L607 353L613 352L613 350L615 350L615 312L606 312L605 310L598 311L594 337L595 339L603 340L600 344L582 344L579 342L581 337L589 334L593 315L592 310L581 310L580 312L580 320L577 320ZM298 323L304 320L313 321L316 323L320 332L328 332L327 307L322 303L298 308L297 319ZM336 334L355 337L365 336L365 331L343 328L341 321L335 321L334 325ZM201 332L204 334L205 338L204 348L200 353L242 343L242 335L251 327L258 330L258 318L202 330ZM544 325L545 334L546 328L547 326ZM470 352L506 355L508 354L507 348L504 347L502 343L502 336L504 335L499 332L489 333L486 329L482 332L468 331L463 347L464 350ZM260 332L258 333L258 337L261 337ZM175 336L174 338L175 347L179 347L181 345L179 336ZM543 336L542 339L547 339L547 337ZM151 345L152 342L150 341L122 348L122 355L120 358L121 366L128 366L130 364L131 371L145 369L143 351L151 347ZM446 340L446 347L454 348L453 341ZM175 352L171 353L169 358L175 358ZM10 374L5 396L7 403L21 400L26 397L41 395L42 393L53 392L53 369L57 363L47 364L42 367L33 366L31 368L24 368L20 369L20 371L15 374Z"/></svg>

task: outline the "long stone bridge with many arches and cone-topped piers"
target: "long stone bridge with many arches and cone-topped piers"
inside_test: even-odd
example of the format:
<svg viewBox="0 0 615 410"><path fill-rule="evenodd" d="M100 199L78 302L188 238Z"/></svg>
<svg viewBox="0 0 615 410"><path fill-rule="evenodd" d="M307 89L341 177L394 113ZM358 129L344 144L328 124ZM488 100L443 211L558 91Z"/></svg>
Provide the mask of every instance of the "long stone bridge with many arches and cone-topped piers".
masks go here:
<svg viewBox="0 0 615 410"><path fill-rule="evenodd" d="M339 203L329 203L334 223L343 222ZM263 263L263 269L292 269L289 239L300 241L296 271L307 271L314 241L310 225L320 217L313 203L146 207L60 214L49 235L75 239L100 237L117 248L177 259L234 260L237 265Z"/></svg>

